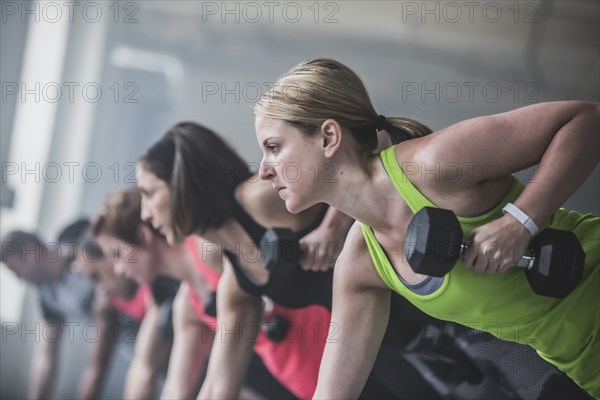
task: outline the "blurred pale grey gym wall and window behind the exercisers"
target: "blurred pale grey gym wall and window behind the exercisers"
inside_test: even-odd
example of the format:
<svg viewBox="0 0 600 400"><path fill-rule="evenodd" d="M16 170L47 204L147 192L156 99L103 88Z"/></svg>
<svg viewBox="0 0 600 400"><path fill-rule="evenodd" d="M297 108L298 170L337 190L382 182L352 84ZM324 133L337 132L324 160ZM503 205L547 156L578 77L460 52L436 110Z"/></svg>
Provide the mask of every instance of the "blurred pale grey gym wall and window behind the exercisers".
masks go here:
<svg viewBox="0 0 600 400"><path fill-rule="evenodd" d="M20 228L51 241L94 215L107 192L135 184L137 157L181 120L258 165L251 107L309 57L354 69L379 113L433 129L599 100L597 1L0 3L2 235ZM598 214L599 182L596 168L565 206ZM34 326L36 293L6 268L0 278L1 395L23 398L36 335L5 326ZM88 345L76 332L63 346L56 398L75 396ZM105 398L121 396L127 360L113 360Z"/></svg>

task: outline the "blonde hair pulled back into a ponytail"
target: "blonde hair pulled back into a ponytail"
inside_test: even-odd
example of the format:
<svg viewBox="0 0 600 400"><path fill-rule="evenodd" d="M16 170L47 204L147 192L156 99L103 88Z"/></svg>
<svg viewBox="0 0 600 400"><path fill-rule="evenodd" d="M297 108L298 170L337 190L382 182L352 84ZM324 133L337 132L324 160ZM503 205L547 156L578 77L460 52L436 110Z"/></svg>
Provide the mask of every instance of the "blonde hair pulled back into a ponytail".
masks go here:
<svg viewBox="0 0 600 400"><path fill-rule="evenodd" d="M383 119L378 119L362 80L330 58L309 59L289 70L254 105L254 114L284 120L307 136L334 119L369 151L377 147L379 129L385 129L394 143L431 133L409 118L386 118L381 125Z"/></svg>

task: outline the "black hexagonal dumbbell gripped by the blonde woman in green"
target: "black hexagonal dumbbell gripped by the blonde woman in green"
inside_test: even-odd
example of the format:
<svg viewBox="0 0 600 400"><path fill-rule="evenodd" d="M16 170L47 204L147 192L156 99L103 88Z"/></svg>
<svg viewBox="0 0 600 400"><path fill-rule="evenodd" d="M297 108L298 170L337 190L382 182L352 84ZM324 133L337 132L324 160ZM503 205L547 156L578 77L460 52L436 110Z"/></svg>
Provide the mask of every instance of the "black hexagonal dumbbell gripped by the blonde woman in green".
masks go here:
<svg viewBox="0 0 600 400"><path fill-rule="evenodd" d="M444 276L468 244L451 210L424 207L408 225L404 254L414 272ZM546 228L529 244L516 264L526 268L533 291L542 296L565 298L583 277L585 253L577 237L568 231Z"/></svg>

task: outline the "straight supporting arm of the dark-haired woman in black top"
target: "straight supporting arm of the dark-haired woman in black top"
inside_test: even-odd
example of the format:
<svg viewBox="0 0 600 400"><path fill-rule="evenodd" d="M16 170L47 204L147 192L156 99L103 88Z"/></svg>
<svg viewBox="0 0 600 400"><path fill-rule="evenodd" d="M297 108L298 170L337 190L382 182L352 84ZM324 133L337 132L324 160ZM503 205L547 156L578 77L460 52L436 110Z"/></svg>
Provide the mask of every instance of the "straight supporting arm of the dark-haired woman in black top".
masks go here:
<svg viewBox="0 0 600 400"><path fill-rule="evenodd" d="M239 396L260 332L262 300L239 287L229 262L224 263L217 293L218 327L199 399Z"/></svg>

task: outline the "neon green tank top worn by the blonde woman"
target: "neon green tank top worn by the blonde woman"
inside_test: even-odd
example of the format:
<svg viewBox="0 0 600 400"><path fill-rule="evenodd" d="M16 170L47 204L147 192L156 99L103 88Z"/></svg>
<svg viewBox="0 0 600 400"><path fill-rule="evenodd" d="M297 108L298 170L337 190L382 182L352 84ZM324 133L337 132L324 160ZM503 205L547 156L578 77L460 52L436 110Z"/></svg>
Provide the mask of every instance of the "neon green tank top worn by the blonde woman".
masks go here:
<svg viewBox="0 0 600 400"><path fill-rule="evenodd" d="M384 150L380 157L398 192L413 213L435 207L406 177L395 148ZM495 208L477 217L458 217L464 237L501 217L504 205L514 202L523 188L513 176L509 192ZM522 268L479 274L460 261L435 292L419 295L402 283L371 228L362 225L362 231L375 268L390 289L435 318L532 346L542 358L600 398L600 218L559 209L540 229L546 227L572 231L586 254L582 282L562 300L536 295Z"/></svg>

